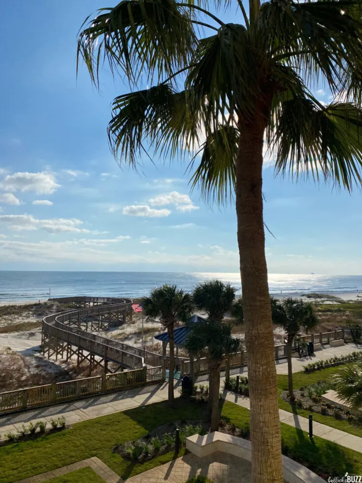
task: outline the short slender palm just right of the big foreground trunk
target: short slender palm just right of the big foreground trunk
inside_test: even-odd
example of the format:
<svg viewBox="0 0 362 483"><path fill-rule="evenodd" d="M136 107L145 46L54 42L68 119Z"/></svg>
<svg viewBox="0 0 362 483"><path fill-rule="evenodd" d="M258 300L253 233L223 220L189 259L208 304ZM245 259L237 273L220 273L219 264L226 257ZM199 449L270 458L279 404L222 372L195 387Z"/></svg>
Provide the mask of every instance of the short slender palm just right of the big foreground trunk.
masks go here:
<svg viewBox="0 0 362 483"><path fill-rule="evenodd" d="M309 332L314 329L318 324L318 318L311 302L292 297L281 301L273 299L271 308L273 322L281 325L287 333L288 385L289 396L293 400L293 341L301 331Z"/></svg>

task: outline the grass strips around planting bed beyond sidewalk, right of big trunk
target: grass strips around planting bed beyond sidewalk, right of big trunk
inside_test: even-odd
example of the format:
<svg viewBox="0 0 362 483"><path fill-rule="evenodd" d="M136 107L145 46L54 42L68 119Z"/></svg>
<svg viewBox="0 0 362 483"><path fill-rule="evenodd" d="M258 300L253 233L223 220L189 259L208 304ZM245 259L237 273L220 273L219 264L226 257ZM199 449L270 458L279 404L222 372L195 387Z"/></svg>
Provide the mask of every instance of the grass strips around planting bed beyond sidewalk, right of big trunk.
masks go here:
<svg viewBox="0 0 362 483"><path fill-rule="evenodd" d="M345 365L328 367L327 369L315 371L310 374L307 374L304 371L296 372L293 374L293 386L295 389L299 389L299 387L315 384L321 380L328 380L342 367L345 367ZM288 391L288 376L278 374L277 378L279 390L279 408L289 411L290 413L298 414L299 416L308 417L309 414L311 414L309 411L306 411L305 409L292 408L287 401L284 401L284 399L280 397L280 393L282 391ZM333 416L324 416L323 414L318 413L313 413L313 420L321 424L325 424L326 426L330 426L331 428L340 429L345 433L354 434L355 436L362 438L362 427L352 425L348 421L335 419Z"/></svg>

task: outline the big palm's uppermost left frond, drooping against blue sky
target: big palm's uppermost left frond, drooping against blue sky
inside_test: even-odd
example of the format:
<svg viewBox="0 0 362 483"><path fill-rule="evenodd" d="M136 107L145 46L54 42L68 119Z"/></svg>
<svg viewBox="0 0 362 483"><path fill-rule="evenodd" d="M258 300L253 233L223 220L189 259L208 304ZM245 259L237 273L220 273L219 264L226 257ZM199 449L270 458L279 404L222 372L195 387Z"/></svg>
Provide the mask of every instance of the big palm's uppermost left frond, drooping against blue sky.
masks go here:
<svg viewBox="0 0 362 483"><path fill-rule="evenodd" d="M77 65L82 58L96 85L105 61L129 79L142 72L161 79L188 64L196 36L188 9L174 0L123 0L98 13L86 19L77 48Z"/></svg>

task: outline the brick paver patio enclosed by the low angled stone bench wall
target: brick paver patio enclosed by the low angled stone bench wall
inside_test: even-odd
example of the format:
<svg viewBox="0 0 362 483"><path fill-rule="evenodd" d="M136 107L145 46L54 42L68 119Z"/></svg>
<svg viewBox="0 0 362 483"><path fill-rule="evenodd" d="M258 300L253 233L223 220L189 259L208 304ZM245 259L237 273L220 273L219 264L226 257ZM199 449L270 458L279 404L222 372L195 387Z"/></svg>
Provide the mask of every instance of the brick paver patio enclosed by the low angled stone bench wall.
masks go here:
<svg viewBox="0 0 362 483"><path fill-rule="evenodd" d="M214 483L250 483L251 463L219 451L204 458L188 453L133 476L127 483L181 483L197 475L207 476Z"/></svg>

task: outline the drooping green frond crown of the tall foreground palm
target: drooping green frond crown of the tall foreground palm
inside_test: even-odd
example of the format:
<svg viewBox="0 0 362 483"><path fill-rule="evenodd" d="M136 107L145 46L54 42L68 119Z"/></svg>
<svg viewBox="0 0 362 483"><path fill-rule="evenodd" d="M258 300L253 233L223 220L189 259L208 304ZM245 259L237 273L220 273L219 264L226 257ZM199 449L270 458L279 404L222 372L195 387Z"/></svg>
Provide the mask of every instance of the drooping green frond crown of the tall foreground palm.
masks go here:
<svg viewBox="0 0 362 483"><path fill-rule="evenodd" d="M245 25L224 23L206 0L123 0L86 20L78 59L96 84L104 61L133 87L142 75L155 82L114 100L114 154L136 166L146 140L164 155L198 148L193 185L222 202L235 184L238 144L259 113L276 172L347 189L361 183L361 2L250 1L249 18L238 6ZM329 86L331 104L313 96L316 82Z"/></svg>

